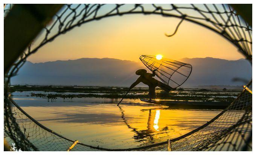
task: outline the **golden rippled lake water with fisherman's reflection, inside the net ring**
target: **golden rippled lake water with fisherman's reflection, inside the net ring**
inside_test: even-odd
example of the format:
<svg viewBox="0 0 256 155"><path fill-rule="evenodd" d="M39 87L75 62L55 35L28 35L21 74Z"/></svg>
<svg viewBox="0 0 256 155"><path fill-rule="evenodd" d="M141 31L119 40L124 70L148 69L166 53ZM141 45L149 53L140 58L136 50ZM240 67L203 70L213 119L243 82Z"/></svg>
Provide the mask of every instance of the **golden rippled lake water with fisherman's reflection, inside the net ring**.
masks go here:
<svg viewBox="0 0 256 155"><path fill-rule="evenodd" d="M84 144L106 148L145 146L179 137L221 110L171 109L139 99L73 98L49 101L14 92L30 116L53 131Z"/></svg>

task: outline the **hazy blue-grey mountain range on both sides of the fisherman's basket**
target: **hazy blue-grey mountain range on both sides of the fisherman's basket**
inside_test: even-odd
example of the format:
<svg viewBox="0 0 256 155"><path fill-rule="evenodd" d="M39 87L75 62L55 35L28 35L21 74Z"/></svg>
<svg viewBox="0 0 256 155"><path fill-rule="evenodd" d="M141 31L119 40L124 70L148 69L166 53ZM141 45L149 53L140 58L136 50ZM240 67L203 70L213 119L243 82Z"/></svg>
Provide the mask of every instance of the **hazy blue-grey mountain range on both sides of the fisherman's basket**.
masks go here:
<svg viewBox="0 0 256 155"><path fill-rule="evenodd" d="M223 60L211 57L183 58L179 61L193 66L189 79L182 87L199 85L241 85L232 79L251 79L252 69L245 59ZM135 71L145 68L141 62L110 58L82 58L45 63L26 62L11 84L130 86L136 79ZM141 84L140 86L145 86Z"/></svg>

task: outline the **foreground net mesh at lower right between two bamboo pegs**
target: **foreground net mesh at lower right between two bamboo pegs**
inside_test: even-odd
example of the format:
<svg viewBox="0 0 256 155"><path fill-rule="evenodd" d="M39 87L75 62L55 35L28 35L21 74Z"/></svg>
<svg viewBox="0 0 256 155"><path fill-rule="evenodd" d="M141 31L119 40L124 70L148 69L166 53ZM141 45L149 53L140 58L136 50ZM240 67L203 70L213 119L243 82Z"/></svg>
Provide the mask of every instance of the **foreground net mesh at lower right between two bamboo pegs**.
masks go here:
<svg viewBox="0 0 256 155"><path fill-rule="evenodd" d="M207 125L207 126L206 126ZM252 149L252 94L244 90L227 109L199 131L174 141L174 150L243 150Z"/></svg>

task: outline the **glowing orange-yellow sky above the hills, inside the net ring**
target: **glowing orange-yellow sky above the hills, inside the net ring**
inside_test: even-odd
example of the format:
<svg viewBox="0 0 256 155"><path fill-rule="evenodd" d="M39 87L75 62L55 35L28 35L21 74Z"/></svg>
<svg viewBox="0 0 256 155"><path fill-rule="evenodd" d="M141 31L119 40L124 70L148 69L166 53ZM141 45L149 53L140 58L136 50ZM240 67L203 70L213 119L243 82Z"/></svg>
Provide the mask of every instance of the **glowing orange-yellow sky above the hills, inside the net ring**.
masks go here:
<svg viewBox="0 0 256 155"><path fill-rule="evenodd" d="M28 58L31 62L73 60L82 57L116 58L138 62L139 56L162 54L169 59L215 57L244 58L234 45L216 33L183 21L159 15L123 15L92 21L59 36Z"/></svg>

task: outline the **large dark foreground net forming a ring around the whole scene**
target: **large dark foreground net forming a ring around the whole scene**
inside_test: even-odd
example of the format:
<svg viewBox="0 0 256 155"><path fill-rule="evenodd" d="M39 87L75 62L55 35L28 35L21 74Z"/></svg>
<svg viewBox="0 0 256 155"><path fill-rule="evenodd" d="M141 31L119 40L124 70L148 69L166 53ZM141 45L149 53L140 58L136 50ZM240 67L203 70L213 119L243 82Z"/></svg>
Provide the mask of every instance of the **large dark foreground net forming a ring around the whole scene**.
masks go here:
<svg viewBox="0 0 256 155"><path fill-rule="evenodd" d="M4 17L11 8L12 5L5 6ZM64 5L52 23L42 30L36 41L27 47L5 75L4 131L5 137L11 139L9 143L15 143L21 150L62 151L75 142L41 125L9 97L8 86L11 77L17 74L28 56L59 35L90 21L128 14L179 18L180 23L174 33L166 36L177 33L184 20L198 24L231 42L252 63L252 28L229 5ZM251 150L252 94L248 91L251 85L252 81L245 87L247 89L243 89L238 97L212 120L180 137L148 146L124 149L95 147L78 142L72 150Z"/></svg>

